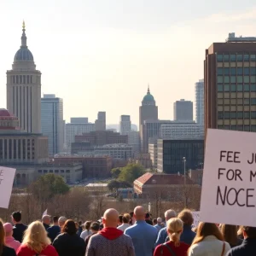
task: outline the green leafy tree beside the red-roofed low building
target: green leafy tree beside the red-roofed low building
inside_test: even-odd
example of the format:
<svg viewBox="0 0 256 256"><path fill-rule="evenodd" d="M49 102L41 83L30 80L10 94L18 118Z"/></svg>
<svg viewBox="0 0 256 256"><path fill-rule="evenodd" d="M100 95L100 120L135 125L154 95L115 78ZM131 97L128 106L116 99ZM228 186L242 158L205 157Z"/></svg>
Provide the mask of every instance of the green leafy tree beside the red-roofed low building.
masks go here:
<svg viewBox="0 0 256 256"><path fill-rule="evenodd" d="M145 173L145 169L140 164L130 163L123 167L120 174L119 180L128 183L133 183L138 177L141 177Z"/></svg>

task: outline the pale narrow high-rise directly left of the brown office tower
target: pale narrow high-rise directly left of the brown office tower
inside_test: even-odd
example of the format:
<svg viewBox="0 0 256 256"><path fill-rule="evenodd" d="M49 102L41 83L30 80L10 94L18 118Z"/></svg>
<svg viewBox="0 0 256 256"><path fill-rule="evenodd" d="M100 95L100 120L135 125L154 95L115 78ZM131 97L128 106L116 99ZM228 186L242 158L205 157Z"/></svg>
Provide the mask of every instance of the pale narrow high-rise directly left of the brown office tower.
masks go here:
<svg viewBox="0 0 256 256"><path fill-rule="evenodd" d="M200 79L195 83L195 121L198 125L204 125L204 102L204 79Z"/></svg>

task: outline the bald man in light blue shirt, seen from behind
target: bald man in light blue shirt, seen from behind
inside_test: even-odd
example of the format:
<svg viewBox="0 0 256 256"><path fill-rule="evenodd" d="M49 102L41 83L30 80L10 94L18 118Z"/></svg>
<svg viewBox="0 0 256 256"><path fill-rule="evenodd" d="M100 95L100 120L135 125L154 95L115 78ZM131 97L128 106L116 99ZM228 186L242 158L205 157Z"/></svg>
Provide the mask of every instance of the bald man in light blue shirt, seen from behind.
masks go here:
<svg viewBox="0 0 256 256"><path fill-rule="evenodd" d="M135 207L134 218L136 223L127 228L125 234L131 236L136 256L152 256L158 231L146 223L143 207Z"/></svg>

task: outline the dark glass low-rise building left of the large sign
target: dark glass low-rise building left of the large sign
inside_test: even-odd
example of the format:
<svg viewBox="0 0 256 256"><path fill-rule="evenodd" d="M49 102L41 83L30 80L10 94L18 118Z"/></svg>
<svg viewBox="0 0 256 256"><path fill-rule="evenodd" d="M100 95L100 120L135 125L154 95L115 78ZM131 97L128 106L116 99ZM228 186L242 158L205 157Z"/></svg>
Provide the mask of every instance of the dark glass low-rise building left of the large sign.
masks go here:
<svg viewBox="0 0 256 256"><path fill-rule="evenodd" d="M196 169L204 161L204 140L163 140L157 143L157 171L170 174ZM185 158L185 163L183 158Z"/></svg>

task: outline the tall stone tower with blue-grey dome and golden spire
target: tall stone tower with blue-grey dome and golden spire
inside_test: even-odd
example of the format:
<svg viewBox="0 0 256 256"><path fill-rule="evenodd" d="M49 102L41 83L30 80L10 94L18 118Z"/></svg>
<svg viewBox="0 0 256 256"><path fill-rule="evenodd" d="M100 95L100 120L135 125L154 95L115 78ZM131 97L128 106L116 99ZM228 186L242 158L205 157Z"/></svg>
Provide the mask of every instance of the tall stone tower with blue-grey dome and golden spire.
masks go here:
<svg viewBox="0 0 256 256"><path fill-rule="evenodd" d="M41 132L41 72L36 70L32 52L26 45L23 22L21 46L12 70L7 71L7 109L20 121L22 131Z"/></svg>

